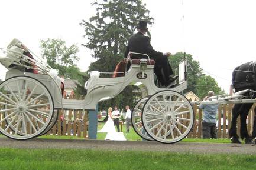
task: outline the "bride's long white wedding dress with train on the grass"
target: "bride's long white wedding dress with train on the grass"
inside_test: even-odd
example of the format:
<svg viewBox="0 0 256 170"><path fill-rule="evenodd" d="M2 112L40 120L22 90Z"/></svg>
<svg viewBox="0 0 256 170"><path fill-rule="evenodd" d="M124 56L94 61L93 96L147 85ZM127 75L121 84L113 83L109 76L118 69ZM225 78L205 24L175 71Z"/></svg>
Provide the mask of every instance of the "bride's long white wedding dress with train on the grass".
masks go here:
<svg viewBox="0 0 256 170"><path fill-rule="evenodd" d="M114 121L111 116L108 116L108 121L106 121L105 125L98 132L107 132L105 140L111 141L126 141L126 138L122 132L116 132Z"/></svg>

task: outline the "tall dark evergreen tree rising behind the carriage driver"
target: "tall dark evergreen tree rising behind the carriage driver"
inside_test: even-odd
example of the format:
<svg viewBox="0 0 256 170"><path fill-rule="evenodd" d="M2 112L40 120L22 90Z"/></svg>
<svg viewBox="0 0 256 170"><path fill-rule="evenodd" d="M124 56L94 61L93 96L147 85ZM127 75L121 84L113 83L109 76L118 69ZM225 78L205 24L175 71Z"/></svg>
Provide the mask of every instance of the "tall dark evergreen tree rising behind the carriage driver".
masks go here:
<svg viewBox="0 0 256 170"><path fill-rule="evenodd" d="M88 38L86 48L93 50L93 58L98 59L90 65L90 71L113 72L116 64L124 58L125 47L138 25L138 19L145 19L151 25L153 18L140 0L111 0L95 1L96 15L89 21L83 20L80 25L85 28ZM150 34L149 34L150 35ZM124 108L134 105L135 88L128 86L124 91L109 101L101 102L99 108L118 105Z"/></svg>

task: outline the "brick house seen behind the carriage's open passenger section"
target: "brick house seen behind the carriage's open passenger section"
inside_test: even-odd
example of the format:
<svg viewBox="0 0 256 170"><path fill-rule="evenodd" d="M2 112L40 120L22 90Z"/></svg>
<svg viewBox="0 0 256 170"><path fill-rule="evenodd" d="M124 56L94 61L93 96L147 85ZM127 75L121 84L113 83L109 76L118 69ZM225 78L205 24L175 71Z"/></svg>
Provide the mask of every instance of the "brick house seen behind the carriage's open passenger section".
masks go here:
<svg viewBox="0 0 256 170"><path fill-rule="evenodd" d="M74 99L74 89L76 89L78 83L77 80L64 79L64 99Z"/></svg>

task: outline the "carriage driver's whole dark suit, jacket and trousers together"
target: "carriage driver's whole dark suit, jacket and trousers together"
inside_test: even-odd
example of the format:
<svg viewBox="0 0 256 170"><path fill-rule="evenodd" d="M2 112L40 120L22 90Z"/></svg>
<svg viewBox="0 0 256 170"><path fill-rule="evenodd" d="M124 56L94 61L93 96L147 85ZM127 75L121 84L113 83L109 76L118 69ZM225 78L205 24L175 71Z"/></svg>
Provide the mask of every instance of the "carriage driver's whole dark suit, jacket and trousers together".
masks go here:
<svg viewBox="0 0 256 170"><path fill-rule="evenodd" d="M141 32L138 32L132 35L129 38L128 45L125 51L125 58L129 52L138 52L144 53L150 56L150 59L154 59L155 68L154 72L157 75L159 81L162 85L167 85L169 81L170 75L173 74L170 63L168 61L167 56L163 56L162 52L155 51L150 44L150 38L148 36L144 36ZM147 59L145 55L132 54L131 59ZM127 64L127 69L129 69L131 64Z"/></svg>

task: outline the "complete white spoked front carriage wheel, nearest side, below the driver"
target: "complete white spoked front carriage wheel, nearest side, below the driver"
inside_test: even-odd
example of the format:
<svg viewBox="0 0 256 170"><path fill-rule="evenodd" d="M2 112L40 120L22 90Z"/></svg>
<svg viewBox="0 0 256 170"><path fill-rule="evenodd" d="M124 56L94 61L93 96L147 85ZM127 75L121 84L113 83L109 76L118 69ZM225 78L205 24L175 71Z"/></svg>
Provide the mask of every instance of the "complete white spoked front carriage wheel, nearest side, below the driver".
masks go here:
<svg viewBox="0 0 256 170"><path fill-rule="evenodd" d="M171 144L181 141L193 126L193 108L185 96L160 91L151 96L142 110L142 124L151 138Z"/></svg>

